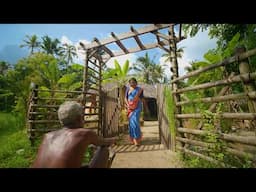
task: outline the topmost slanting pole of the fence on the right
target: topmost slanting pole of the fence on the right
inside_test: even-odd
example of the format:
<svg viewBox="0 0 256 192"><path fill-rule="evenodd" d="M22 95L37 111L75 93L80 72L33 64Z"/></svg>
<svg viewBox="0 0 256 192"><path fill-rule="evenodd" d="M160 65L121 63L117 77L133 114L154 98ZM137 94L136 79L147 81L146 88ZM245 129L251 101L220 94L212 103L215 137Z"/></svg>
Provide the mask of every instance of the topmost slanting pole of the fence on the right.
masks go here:
<svg viewBox="0 0 256 192"><path fill-rule="evenodd" d="M250 56L253 56L253 55L256 55L256 49L252 49L246 53L242 53L240 55L236 55L236 56L233 56L233 57L230 57L228 59L225 59L224 61L221 61L217 64L212 64L212 65L209 65L207 67L204 67L202 69L198 69L198 70L195 70L193 72L190 72L190 73L187 73L186 75L184 76L181 76L181 77L178 77L178 78L174 78L171 83L175 83L177 81L180 81L180 80L183 80L183 79L186 79L186 78L189 78L189 77L193 77L193 76L196 76L196 75L199 75L205 71L209 71L211 69L215 69L217 67L220 67L220 66L225 66L227 64L230 64L230 63L233 63L237 60L243 60L245 58L248 58Z"/></svg>

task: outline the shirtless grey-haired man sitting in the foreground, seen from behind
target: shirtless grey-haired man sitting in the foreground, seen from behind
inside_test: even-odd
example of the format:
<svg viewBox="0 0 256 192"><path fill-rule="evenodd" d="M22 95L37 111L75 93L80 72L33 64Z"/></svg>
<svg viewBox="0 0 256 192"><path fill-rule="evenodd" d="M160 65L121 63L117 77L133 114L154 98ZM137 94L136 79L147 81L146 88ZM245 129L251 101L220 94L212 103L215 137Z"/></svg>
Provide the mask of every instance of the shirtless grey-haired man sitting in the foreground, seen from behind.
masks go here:
<svg viewBox="0 0 256 192"><path fill-rule="evenodd" d="M58 110L63 128L45 134L32 168L79 168L88 145L101 146L89 168L107 168L108 146L115 138L101 138L83 128L83 107L74 101L63 103Z"/></svg>

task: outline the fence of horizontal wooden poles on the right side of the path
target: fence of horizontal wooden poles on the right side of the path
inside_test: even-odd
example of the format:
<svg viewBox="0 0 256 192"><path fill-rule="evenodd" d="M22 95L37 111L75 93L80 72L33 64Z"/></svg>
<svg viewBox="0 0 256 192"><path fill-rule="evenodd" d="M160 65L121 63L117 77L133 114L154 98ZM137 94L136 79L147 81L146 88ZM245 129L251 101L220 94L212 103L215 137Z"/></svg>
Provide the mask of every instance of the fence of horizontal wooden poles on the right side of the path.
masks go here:
<svg viewBox="0 0 256 192"><path fill-rule="evenodd" d="M214 134L220 141L225 143L225 148L223 148L223 153L228 153L240 158L247 158L252 162L256 160L256 128L255 128L255 120L256 120L256 92L255 92L255 79L256 72L249 70L248 58L256 55L256 49L245 52L244 48L239 48L236 51L235 56L232 56L224 61L221 61L217 64L208 65L202 69L198 69L187 73L184 76L178 77L176 76L171 81L172 83L172 93L175 100L176 105L176 113L175 118L176 122L176 132L177 136L175 137L176 142L175 146L172 146L173 149L178 149L183 151L184 153L188 153L191 155L198 156L207 161L211 161L214 163L218 163L218 161L209 155L209 153L205 152L209 148L213 147L216 143L211 143L210 141L203 140L207 134L209 134L209 130L204 127L204 120L207 120L207 117L204 116L204 111L208 110L211 113L211 118L214 119L212 123L214 123L215 129L212 130L212 134ZM237 66L239 66L239 73L232 72L226 78L220 79L214 82L207 82L199 85L192 85L189 87L181 87L180 81L198 76L202 73L208 72L210 70L215 69L224 69L225 66L228 66L234 62L237 62ZM256 65L256 64L254 64ZM235 70L234 70L235 71ZM233 93L231 86L237 83L242 83L244 92L243 93ZM213 97L206 98L196 98L196 99L188 99L186 98L186 93L194 91L199 92L202 90L209 90L210 88L219 88L219 93L214 95ZM162 92L162 91L161 91ZM181 100L181 98L186 98ZM160 95L161 99L161 95ZM232 103L238 103L243 100L244 104L247 104L247 111L244 110L232 110L230 107ZM162 101L161 101L162 102ZM200 109L196 107L202 103L209 103L208 109ZM226 107L224 107L227 111L218 112L216 111L217 104L223 103ZM160 105L164 106L163 103ZM184 113L185 107L188 105L194 105L195 111L193 113ZM161 107L159 107L160 109ZM181 108L181 110L178 110ZM161 112L161 111L160 111ZM164 114L161 115L164 118ZM209 118L209 117L208 117ZM197 120L196 126L189 125L189 121L192 119ZM220 121L228 119L230 120L229 127L223 130L223 127L220 124ZM210 120L210 119L209 119ZM164 120L162 120L164 121ZM238 126L240 122L241 126ZM245 123L249 124L249 128L247 128L247 132L245 130ZM163 123L162 123L163 124ZM186 127L188 126L188 127ZM235 127L234 127L235 126ZM167 140L165 128L166 125L162 127L161 135L163 140ZM248 130L249 129L249 130ZM245 133L251 133L250 135L245 136L245 133L242 134L242 130ZM170 143L170 141L165 141L166 145ZM226 166L223 163L220 163L222 166Z"/></svg>

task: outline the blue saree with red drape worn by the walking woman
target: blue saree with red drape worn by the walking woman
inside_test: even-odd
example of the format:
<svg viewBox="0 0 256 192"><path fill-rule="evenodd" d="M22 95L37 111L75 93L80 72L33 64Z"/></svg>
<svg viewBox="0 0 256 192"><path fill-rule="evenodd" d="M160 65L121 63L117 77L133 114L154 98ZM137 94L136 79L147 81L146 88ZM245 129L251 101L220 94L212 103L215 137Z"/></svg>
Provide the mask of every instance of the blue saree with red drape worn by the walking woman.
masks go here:
<svg viewBox="0 0 256 192"><path fill-rule="evenodd" d="M140 87L136 87L133 91L129 93L129 87L126 90L126 98L128 103L134 101L135 96L139 93ZM139 98L143 97L143 91L141 92ZM128 110L129 118L129 134L130 139L141 139L141 130L140 130L140 113L142 111L142 101L139 99L136 107L133 106L132 110Z"/></svg>

